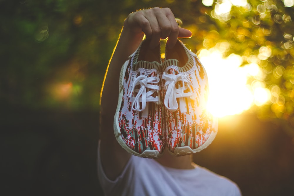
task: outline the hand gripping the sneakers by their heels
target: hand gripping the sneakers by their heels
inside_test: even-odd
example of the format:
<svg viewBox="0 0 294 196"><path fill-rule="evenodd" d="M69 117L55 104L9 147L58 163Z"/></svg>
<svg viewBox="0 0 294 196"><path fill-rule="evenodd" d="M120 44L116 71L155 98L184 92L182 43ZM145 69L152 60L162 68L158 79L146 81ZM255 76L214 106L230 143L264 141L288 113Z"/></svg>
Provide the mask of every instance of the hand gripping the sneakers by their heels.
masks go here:
<svg viewBox="0 0 294 196"><path fill-rule="evenodd" d="M160 39L168 38L166 46L172 48L178 38L188 38L192 32L178 26L169 8L151 8L133 12L125 20L124 27L132 33L141 34L144 31L146 39L151 39L150 48L155 48Z"/></svg>

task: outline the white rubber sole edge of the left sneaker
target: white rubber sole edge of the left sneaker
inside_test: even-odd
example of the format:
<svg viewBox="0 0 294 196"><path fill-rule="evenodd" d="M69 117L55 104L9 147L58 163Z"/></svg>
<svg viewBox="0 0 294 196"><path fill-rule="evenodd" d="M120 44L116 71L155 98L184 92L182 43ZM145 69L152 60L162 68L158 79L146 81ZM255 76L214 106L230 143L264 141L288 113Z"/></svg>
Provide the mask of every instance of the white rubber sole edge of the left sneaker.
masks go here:
<svg viewBox="0 0 294 196"><path fill-rule="evenodd" d="M113 130L114 134L116 137L116 140L118 143L125 149L127 152L131 153L132 155L138 156L138 157L143 157L143 158L158 158L160 156L160 153L158 150L145 150L141 154L132 150L128 145L123 141L123 138L121 137L121 131L119 128L118 124L118 117L119 117L119 112L121 110L121 100L123 98L123 79L125 77L126 69L128 67L128 61L126 61L123 64L123 67L121 68L121 73L119 76L119 94L118 94L118 104L116 107L116 112L114 115L114 122L113 122Z"/></svg>

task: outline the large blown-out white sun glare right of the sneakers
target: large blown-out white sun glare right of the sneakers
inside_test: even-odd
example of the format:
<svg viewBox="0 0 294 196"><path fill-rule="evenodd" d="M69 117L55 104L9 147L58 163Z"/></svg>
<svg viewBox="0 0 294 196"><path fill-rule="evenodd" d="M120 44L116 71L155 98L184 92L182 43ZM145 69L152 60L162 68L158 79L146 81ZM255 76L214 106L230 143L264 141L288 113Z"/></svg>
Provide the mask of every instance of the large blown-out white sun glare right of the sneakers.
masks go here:
<svg viewBox="0 0 294 196"><path fill-rule="evenodd" d="M262 82L255 80L248 84L249 77L262 74L259 66L250 63L240 67L243 59L237 54L224 58L221 51L226 45L220 43L218 47L202 49L198 54L209 80L207 107L216 117L240 114L253 104L260 106L270 99L270 91Z"/></svg>

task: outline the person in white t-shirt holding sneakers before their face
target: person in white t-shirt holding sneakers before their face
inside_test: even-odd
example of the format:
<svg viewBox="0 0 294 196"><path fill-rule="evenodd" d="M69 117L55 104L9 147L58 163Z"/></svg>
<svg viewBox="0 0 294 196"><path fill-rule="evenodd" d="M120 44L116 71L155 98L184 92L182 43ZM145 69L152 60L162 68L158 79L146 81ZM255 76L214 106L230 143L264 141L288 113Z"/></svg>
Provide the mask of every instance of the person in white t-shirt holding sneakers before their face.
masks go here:
<svg viewBox="0 0 294 196"><path fill-rule="evenodd" d="M128 60L143 36L151 49L161 39L173 48L178 38L189 38L191 31L178 26L169 8L150 8L133 12L125 19L108 64L101 90L98 178L105 195L241 195L231 180L196 165L192 155L141 158L127 152L113 131L121 66Z"/></svg>

